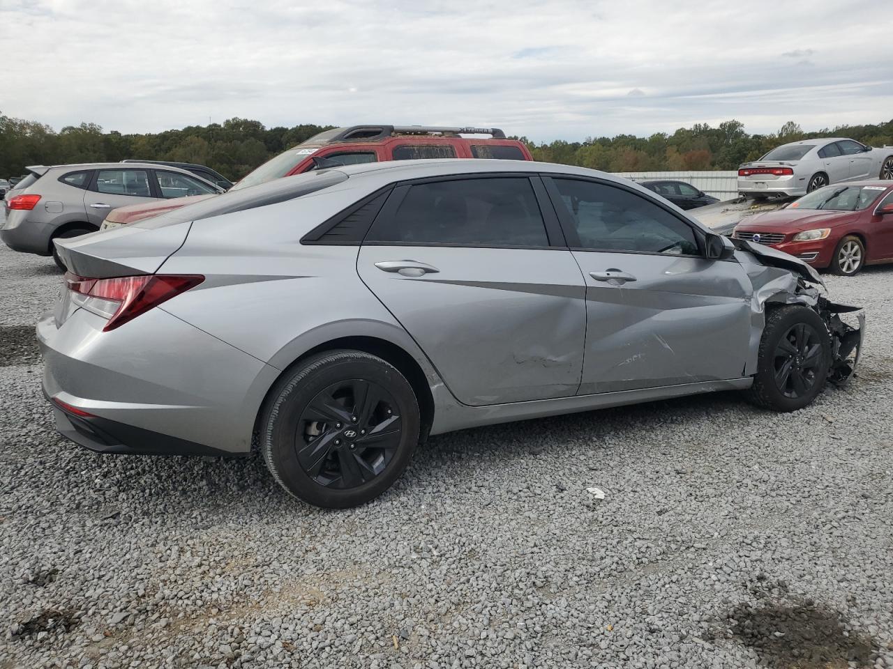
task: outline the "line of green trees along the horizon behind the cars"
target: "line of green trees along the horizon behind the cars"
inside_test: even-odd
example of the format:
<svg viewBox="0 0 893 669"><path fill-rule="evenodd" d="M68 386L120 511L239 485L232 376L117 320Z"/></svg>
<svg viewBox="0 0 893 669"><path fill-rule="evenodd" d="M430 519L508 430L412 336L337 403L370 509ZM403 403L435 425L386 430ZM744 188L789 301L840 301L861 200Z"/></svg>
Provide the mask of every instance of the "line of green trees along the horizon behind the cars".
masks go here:
<svg viewBox="0 0 893 669"><path fill-rule="evenodd" d="M126 158L195 162L207 165L233 181L263 161L322 130L334 126L302 124L266 128L258 120L229 119L207 126L188 126L160 133L104 132L95 123L66 126L58 132L33 120L0 113L0 178L22 174L27 165L76 162L117 162ZM866 145L893 145L893 120L877 125L838 126L804 132L789 121L778 132L751 135L738 120L716 128L696 123L672 135L588 137L582 142L536 144L521 139L534 160L560 162L611 172L683 169L736 169L773 147L814 136L846 136Z"/></svg>

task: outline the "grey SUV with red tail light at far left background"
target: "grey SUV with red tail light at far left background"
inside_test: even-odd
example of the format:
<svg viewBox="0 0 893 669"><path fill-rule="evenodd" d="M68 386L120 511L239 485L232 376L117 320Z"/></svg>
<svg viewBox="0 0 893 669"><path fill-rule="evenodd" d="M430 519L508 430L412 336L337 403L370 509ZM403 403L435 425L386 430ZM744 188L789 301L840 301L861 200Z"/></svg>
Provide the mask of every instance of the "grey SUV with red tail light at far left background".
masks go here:
<svg viewBox="0 0 893 669"><path fill-rule="evenodd" d="M52 254L63 268L53 241L95 232L116 207L216 193L223 189L185 169L150 163L38 165L5 199L0 238L13 251Z"/></svg>

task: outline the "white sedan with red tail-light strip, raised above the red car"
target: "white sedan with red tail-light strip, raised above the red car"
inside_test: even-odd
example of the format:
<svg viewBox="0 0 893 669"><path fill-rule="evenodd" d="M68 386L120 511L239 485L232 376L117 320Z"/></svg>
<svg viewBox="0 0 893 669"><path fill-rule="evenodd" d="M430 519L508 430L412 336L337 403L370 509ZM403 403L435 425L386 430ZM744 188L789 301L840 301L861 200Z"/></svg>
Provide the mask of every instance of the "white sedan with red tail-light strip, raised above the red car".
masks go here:
<svg viewBox="0 0 893 669"><path fill-rule="evenodd" d="M738 169L740 195L793 197L841 181L893 179L893 146L822 137L776 146Z"/></svg>

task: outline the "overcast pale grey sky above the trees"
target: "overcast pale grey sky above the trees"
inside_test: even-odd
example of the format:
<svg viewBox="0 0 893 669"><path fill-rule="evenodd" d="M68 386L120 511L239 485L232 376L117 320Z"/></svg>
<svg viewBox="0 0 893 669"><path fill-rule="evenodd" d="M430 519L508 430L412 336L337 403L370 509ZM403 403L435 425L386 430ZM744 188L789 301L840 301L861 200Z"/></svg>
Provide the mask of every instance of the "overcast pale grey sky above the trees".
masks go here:
<svg viewBox="0 0 893 669"><path fill-rule="evenodd" d="M121 132L814 129L893 118L891 36L889 0L0 0L0 111Z"/></svg>

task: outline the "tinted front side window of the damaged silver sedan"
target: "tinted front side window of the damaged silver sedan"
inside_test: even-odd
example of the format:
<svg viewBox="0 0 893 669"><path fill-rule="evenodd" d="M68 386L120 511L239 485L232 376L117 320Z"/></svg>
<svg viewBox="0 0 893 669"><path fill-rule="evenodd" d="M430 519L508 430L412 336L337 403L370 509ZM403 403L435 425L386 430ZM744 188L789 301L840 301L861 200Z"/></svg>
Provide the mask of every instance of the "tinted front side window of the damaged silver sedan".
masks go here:
<svg viewBox="0 0 893 669"><path fill-rule="evenodd" d="M555 179L555 186L582 248L699 254L691 227L641 195L574 179Z"/></svg>

